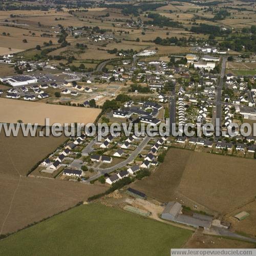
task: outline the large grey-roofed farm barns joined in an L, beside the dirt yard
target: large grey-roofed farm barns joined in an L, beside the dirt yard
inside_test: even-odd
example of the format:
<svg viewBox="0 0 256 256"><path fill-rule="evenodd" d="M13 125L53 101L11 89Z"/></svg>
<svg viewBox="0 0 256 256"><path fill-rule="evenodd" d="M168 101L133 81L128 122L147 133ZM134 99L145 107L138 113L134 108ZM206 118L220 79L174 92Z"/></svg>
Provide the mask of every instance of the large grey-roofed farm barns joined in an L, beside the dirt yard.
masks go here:
<svg viewBox="0 0 256 256"><path fill-rule="evenodd" d="M212 217L194 213L192 216L183 214L182 205L178 202L169 202L162 212L162 219L175 221L189 226L202 227L209 231Z"/></svg>

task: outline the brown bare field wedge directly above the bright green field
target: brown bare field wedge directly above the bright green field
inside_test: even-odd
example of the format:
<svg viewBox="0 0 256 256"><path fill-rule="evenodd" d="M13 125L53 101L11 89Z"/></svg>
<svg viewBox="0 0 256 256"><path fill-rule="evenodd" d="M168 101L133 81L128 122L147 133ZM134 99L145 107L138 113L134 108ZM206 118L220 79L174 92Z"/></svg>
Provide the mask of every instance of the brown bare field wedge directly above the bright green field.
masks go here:
<svg viewBox="0 0 256 256"><path fill-rule="evenodd" d="M104 191L97 185L0 173L0 229L15 232Z"/></svg>

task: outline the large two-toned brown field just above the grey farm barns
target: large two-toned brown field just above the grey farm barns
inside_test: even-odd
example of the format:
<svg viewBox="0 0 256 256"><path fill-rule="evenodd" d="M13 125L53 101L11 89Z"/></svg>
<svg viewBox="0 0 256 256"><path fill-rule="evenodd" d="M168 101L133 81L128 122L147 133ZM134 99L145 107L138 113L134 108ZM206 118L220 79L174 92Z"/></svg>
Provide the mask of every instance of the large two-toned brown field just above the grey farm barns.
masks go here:
<svg viewBox="0 0 256 256"><path fill-rule="evenodd" d="M256 195L254 169L254 160L170 148L156 172L132 187L164 202L178 198L225 214Z"/></svg>

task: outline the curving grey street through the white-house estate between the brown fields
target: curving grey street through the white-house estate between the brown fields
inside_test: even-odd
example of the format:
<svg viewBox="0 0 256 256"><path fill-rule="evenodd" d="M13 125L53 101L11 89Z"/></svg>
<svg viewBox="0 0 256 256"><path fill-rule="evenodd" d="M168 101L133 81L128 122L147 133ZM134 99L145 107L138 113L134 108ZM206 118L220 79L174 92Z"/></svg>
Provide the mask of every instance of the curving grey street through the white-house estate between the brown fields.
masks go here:
<svg viewBox="0 0 256 256"><path fill-rule="evenodd" d="M114 170L118 169L118 168L122 168L125 165L129 164L130 162L132 162L137 155L143 150L144 146L150 141L151 137L146 136L141 143L136 147L136 149L131 153L131 155L125 159L124 161L111 166L109 168L93 168L94 170L96 170L98 172L97 175L91 177L90 179L86 180L86 183L89 183L91 180L96 180L98 179L101 175L103 174L109 174L114 172Z"/></svg>

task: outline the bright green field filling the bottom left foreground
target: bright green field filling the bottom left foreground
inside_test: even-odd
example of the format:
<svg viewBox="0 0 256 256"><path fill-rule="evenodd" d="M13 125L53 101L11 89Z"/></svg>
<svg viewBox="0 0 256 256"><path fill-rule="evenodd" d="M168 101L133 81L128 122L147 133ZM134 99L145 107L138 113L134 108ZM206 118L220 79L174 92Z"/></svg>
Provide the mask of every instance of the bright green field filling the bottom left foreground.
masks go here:
<svg viewBox="0 0 256 256"><path fill-rule="evenodd" d="M0 255L169 255L192 232L101 204L80 205L0 241Z"/></svg>

